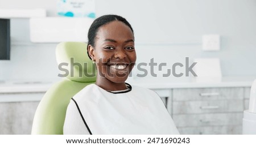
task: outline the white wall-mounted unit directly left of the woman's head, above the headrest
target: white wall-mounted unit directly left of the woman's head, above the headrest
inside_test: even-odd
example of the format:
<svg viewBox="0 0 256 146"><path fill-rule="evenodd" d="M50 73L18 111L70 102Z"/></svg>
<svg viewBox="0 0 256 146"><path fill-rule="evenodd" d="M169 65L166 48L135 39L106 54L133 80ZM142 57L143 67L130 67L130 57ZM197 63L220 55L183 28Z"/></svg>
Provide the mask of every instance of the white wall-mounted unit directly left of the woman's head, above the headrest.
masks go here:
<svg viewBox="0 0 256 146"><path fill-rule="evenodd" d="M47 17L30 19L31 42L87 41L93 19Z"/></svg>

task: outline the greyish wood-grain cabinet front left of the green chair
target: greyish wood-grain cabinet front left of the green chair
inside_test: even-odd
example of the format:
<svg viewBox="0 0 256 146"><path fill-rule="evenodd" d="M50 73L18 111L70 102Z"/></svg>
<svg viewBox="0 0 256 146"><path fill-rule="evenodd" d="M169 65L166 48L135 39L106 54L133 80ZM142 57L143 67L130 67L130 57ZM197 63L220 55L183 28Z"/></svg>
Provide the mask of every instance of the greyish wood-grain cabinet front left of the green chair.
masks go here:
<svg viewBox="0 0 256 146"><path fill-rule="evenodd" d="M0 103L0 134L31 134L39 101Z"/></svg>

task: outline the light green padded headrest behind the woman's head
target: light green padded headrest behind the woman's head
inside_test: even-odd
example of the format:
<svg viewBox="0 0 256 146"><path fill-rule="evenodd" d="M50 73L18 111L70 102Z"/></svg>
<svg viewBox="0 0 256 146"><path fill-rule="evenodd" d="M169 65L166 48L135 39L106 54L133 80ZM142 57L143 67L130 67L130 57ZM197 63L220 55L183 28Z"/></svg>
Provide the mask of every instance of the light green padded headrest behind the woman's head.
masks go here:
<svg viewBox="0 0 256 146"><path fill-rule="evenodd" d="M79 82L96 81L96 67L87 55L84 42L60 42L56 59L61 76Z"/></svg>

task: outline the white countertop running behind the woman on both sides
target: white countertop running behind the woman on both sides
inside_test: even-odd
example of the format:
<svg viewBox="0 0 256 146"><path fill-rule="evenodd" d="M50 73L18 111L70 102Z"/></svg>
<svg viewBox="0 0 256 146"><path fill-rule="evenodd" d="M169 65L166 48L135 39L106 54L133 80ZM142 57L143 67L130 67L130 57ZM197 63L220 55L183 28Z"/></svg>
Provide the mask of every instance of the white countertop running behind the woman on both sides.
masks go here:
<svg viewBox="0 0 256 146"><path fill-rule="evenodd" d="M221 81L198 83L191 79L130 79L127 83L150 89L170 88L218 88L218 87L250 87L256 77L223 77ZM0 82L0 93L43 93L56 81L5 81Z"/></svg>

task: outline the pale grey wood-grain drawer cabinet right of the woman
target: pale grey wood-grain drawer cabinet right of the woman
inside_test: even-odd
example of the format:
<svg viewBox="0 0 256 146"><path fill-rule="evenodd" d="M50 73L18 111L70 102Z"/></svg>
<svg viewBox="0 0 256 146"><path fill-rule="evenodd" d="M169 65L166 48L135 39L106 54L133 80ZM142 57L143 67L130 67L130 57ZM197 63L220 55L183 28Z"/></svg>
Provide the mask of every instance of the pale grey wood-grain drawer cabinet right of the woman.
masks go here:
<svg viewBox="0 0 256 146"><path fill-rule="evenodd" d="M242 134L249 87L170 88L155 90L180 134ZM167 95L163 93L169 93Z"/></svg>

